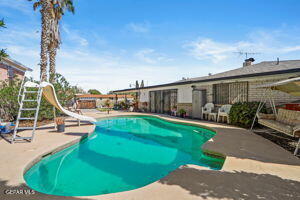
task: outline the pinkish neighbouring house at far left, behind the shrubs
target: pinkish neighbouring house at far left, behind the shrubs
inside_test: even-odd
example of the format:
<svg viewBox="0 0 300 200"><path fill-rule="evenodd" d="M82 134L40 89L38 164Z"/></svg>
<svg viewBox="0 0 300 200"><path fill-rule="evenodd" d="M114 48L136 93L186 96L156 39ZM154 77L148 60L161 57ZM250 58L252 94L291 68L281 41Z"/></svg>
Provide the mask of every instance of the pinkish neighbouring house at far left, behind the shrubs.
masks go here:
<svg viewBox="0 0 300 200"><path fill-rule="evenodd" d="M14 78L22 80L26 71L32 69L9 57L2 58L0 61L0 81L11 81Z"/></svg>

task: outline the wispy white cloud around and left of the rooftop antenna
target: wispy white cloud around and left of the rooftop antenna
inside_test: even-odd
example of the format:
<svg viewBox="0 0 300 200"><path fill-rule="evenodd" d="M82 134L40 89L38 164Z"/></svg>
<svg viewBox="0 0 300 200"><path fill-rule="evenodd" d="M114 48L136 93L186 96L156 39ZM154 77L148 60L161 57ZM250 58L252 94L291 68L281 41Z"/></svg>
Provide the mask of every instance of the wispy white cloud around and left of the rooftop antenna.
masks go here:
<svg viewBox="0 0 300 200"><path fill-rule="evenodd" d="M300 40L286 37L281 31L265 32L255 31L248 34L245 40L236 42L218 42L212 38L199 38L184 44L189 55L198 60L208 60L219 63L225 59L232 58L233 53L258 52L264 55L282 55L286 53L300 51ZM288 36L290 37L290 36ZM290 39L293 45L288 45L285 41Z"/></svg>

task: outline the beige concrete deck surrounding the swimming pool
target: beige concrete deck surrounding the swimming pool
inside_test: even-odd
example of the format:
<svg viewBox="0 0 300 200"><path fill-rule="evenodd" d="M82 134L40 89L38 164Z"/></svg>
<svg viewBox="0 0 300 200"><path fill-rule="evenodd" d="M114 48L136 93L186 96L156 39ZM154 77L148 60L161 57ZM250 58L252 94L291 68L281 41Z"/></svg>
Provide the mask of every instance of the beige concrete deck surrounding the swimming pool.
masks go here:
<svg viewBox="0 0 300 200"><path fill-rule="evenodd" d="M107 116L95 110L83 112L96 118ZM109 116L129 114L141 113L112 112ZM227 156L222 170L182 166L145 187L99 196L59 197L38 192L6 194L29 189L23 173L35 159L67 143L78 142L94 130L94 125L78 127L75 121L69 121L64 133L55 132L53 124L41 127L32 143L10 144L0 138L0 199L300 199L300 159L278 145L248 130L225 124L156 116L215 129L217 135L203 148ZM22 135L28 133L24 131Z"/></svg>

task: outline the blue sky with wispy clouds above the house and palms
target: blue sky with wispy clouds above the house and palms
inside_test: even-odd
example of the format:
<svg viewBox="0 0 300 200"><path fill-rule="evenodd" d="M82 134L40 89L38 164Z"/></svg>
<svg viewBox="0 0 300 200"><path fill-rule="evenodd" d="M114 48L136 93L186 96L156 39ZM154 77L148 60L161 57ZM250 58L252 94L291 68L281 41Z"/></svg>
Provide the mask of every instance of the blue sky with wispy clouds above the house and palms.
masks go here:
<svg viewBox="0 0 300 200"><path fill-rule="evenodd" d="M102 92L197 77L256 62L300 59L299 0L74 0L61 22L57 71ZM40 13L0 0L0 47L39 73Z"/></svg>

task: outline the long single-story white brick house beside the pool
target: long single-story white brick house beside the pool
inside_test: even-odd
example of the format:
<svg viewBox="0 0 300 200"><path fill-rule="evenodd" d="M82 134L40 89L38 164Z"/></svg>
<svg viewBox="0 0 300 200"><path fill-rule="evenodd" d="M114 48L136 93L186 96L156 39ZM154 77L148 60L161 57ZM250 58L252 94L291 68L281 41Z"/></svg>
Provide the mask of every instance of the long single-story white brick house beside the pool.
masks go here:
<svg viewBox="0 0 300 200"><path fill-rule="evenodd" d="M247 59L243 67L197 78L153 85L143 88L116 90L116 94L136 92L139 108L154 113L170 113L176 107L187 115L200 118L201 107L208 102L217 107L235 102L260 101L264 93L257 85L300 76L300 60L264 61L252 64ZM275 94L275 101L289 103L298 101L282 92ZM145 103L146 102L146 103Z"/></svg>

